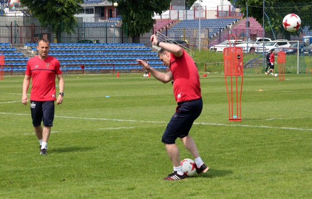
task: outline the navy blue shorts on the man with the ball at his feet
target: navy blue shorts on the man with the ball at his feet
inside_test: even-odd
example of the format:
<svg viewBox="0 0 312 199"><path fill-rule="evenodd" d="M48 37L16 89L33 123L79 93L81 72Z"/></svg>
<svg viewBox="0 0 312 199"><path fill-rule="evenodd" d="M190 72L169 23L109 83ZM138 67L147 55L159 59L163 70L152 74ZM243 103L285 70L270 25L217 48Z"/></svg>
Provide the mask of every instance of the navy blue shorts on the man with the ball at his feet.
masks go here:
<svg viewBox="0 0 312 199"><path fill-rule="evenodd" d="M177 138L184 138L203 109L202 99L178 103L175 114L171 117L161 142L175 144Z"/></svg>

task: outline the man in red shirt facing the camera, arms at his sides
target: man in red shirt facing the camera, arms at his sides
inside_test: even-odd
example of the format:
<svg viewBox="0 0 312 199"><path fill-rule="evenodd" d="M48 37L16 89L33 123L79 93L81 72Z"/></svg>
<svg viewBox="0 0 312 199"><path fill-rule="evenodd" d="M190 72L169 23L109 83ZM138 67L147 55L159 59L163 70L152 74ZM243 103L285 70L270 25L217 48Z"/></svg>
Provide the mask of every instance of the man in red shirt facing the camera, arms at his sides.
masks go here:
<svg viewBox="0 0 312 199"><path fill-rule="evenodd" d="M38 41L38 56L28 60L23 81L21 102L27 105L27 90L32 78L30 110L35 134L40 143L40 155L47 155L48 139L54 120L54 101L63 102L64 79L59 60L48 55L50 43L46 39ZM55 76L59 79L59 94L56 94ZM43 128L41 126L43 121Z"/></svg>

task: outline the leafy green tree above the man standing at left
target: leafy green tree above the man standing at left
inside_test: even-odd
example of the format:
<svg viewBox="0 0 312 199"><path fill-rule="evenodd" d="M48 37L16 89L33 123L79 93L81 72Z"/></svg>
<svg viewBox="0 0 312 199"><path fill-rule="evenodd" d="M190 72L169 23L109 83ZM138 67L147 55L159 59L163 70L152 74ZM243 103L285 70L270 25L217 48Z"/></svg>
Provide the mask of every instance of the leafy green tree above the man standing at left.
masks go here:
<svg viewBox="0 0 312 199"><path fill-rule="evenodd" d="M20 3L28 7L43 28L56 33L58 41L61 41L62 32L75 32L77 18L74 15L81 8L79 3L83 3L83 0L20 0Z"/></svg>

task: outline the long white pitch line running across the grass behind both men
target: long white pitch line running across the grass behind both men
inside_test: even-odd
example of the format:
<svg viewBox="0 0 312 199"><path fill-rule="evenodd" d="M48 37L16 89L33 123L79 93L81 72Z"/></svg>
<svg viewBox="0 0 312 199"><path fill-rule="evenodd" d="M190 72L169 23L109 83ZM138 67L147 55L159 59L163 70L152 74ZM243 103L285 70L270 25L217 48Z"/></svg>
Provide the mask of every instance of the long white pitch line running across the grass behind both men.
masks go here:
<svg viewBox="0 0 312 199"><path fill-rule="evenodd" d="M5 113L0 112L0 114L7 115L29 115L30 114L22 114L22 113ZM118 122L140 122L140 123L168 123L168 122L157 122L157 121L143 121L143 120L120 120L120 119L108 119L108 118L86 118L86 117L65 117L65 116L55 116L60 118L67 119L78 119L78 120L107 120L107 121L118 121ZM294 119L294 118L292 118ZM218 124L218 123L194 123L195 125L211 125L211 126L225 126L225 127L254 127L254 128L273 128L273 129L288 129L288 130L308 130L312 131L312 128L295 128L295 127L270 127L270 126L253 126L253 125L239 125L239 124Z"/></svg>

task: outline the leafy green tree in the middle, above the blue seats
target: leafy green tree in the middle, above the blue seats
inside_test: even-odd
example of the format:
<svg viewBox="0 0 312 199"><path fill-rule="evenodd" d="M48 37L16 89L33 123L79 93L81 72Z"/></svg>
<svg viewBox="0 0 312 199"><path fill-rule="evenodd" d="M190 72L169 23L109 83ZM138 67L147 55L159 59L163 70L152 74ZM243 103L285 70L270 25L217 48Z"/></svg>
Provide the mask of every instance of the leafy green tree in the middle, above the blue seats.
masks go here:
<svg viewBox="0 0 312 199"><path fill-rule="evenodd" d="M153 29L156 20L154 14L161 14L170 7L171 0L110 0L117 2L122 16L122 29L139 43L139 36Z"/></svg>

